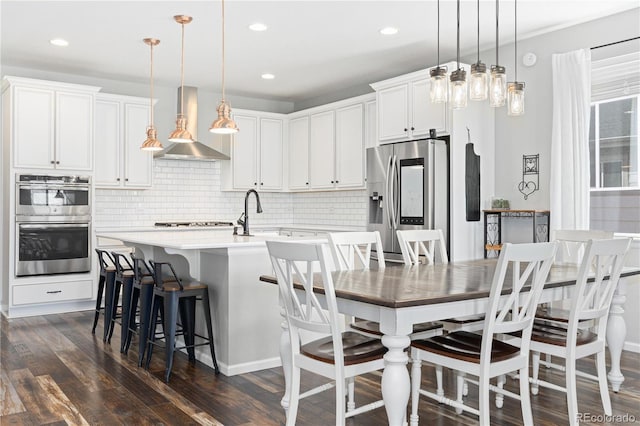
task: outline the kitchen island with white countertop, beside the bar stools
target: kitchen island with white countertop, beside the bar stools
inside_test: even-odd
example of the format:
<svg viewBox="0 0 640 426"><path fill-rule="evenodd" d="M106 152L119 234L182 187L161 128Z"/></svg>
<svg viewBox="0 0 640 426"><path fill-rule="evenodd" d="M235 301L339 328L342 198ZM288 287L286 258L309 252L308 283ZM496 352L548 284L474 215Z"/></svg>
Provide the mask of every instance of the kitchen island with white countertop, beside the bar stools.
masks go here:
<svg viewBox="0 0 640 426"><path fill-rule="evenodd" d="M272 273L265 241L326 242L322 236L232 235L231 229L96 235L122 241L147 260L171 262L180 278L209 286L216 358L227 376L281 364L278 288L259 281L260 275ZM197 328L202 331L204 317L200 311L197 314ZM208 350L197 351L196 358L212 365Z"/></svg>

